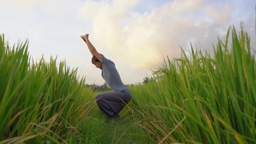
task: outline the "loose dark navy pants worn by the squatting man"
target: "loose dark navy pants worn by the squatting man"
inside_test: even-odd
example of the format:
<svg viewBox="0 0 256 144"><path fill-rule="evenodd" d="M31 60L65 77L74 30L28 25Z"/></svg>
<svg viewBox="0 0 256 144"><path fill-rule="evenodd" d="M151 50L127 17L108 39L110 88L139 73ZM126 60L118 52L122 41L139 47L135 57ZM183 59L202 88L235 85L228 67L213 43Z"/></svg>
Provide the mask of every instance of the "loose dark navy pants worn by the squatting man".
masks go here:
<svg viewBox="0 0 256 144"><path fill-rule="evenodd" d="M108 119L120 117L118 113L131 100L131 92L125 89L121 92L107 92L96 96L96 102L101 112Z"/></svg>

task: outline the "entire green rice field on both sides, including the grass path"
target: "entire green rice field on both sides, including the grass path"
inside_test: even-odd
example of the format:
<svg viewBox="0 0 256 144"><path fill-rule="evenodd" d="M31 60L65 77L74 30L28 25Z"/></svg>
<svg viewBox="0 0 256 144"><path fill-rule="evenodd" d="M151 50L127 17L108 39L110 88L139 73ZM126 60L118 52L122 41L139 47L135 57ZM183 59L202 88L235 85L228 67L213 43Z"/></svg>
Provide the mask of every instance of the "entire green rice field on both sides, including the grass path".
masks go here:
<svg viewBox="0 0 256 144"><path fill-rule="evenodd" d="M211 55L191 48L165 59L153 80L129 87L132 101L116 121L100 113L76 69L33 62L27 46L10 48L0 36L0 144L256 143L255 52L243 27L230 28Z"/></svg>

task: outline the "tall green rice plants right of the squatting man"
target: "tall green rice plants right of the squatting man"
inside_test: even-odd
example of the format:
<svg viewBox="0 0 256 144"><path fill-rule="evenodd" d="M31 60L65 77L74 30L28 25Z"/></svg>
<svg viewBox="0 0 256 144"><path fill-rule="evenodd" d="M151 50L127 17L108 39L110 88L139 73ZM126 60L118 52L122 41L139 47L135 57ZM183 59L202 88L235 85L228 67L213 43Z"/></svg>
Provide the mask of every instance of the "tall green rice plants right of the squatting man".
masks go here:
<svg viewBox="0 0 256 144"><path fill-rule="evenodd" d="M228 38L232 30L232 44ZM229 28L214 55L194 50L191 58L164 61L155 80L131 87L134 117L159 144L256 143L256 64L250 37Z"/></svg>

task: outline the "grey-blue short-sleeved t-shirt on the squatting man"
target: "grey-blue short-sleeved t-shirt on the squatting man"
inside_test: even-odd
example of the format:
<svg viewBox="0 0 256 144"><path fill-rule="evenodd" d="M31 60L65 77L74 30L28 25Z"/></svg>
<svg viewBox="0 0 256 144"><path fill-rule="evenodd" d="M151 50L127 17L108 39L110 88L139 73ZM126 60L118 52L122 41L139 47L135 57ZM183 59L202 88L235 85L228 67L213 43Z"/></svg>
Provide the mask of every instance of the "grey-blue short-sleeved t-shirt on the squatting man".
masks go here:
<svg viewBox="0 0 256 144"><path fill-rule="evenodd" d="M114 92L120 92L127 89L116 70L114 62L106 59L104 56L102 56L101 76Z"/></svg>

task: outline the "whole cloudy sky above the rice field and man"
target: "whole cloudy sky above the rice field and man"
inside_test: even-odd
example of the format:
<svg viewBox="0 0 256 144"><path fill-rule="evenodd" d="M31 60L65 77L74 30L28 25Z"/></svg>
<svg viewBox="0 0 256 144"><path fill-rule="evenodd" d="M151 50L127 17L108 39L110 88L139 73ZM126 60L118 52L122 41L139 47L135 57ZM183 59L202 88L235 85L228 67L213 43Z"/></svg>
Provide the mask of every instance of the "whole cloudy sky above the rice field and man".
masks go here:
<svg viewBox="0 0 256 144"><path fill-rule="evenodd" d="M256 50L255 0L0 0L0 34L12 46L29 40L33 59L58 56L86 83L104 83L80 35L112 60L124 84L142 82L164 58L193 48L213 51L240 22Z"/></svg>

